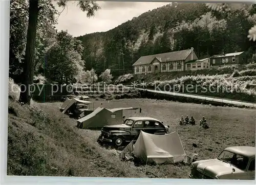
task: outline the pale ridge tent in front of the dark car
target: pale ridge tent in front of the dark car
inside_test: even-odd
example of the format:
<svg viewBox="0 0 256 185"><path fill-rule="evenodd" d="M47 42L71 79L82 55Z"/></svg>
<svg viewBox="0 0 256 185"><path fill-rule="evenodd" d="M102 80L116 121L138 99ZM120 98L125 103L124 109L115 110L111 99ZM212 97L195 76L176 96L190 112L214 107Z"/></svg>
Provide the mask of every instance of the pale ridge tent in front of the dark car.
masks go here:
<svg viewBox="0 0 256 185"><path fill-rule="evenodd" d="M128 145L129 149L124 149L120 153L120 158L124 157L125 151L132 151L135 157L144 162L156 163L181 162L186 156L178 132L154 135L141 131L133 149L131 149L131 145L133 145L131 143Z"/></svg>

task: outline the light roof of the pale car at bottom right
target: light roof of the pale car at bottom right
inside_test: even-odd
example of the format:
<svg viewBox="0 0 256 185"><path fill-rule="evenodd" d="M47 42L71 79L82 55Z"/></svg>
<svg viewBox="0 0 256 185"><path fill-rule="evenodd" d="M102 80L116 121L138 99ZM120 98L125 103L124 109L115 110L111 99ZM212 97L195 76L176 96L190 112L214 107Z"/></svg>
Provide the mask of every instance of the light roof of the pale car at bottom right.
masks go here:
<svg viewBox="0 0 256 185"><path fill-rule="evenodd" d="M225 150L246 157L255 157L256 154L254 146L231 146L227 147Z"/></svg>

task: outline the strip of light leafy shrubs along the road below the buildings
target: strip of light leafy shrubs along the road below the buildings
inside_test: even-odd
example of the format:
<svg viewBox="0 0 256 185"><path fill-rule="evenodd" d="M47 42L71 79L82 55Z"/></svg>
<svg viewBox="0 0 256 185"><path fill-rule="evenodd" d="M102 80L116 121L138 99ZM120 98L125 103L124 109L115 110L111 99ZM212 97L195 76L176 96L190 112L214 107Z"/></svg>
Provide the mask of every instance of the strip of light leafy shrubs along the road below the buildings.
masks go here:
<svg viewBox="0 0 256 185"><path fill-rule="evenodd" d="M184 76L170 81L155 81L147 87L175 93L197 94L210 97L255 102L256 91L246 89L246 84L238 79L227 81L228 75ZM138 85L141 86L141 85Z"/></svg>

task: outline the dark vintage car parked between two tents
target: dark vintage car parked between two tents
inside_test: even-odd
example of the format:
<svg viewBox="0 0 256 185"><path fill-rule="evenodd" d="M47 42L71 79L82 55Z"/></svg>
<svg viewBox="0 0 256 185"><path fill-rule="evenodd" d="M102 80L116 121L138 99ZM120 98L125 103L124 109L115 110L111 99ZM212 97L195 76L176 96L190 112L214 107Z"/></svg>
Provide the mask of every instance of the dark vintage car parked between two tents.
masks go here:
<svg viewBox="0 0 256 185"><path fill-rule="evenodd" d="M140 131L164 135L169 132L169 126L151 117L130 117L123 124L107 125L101 128L98 142L121 146L124 143L136 141Z"/></svg>

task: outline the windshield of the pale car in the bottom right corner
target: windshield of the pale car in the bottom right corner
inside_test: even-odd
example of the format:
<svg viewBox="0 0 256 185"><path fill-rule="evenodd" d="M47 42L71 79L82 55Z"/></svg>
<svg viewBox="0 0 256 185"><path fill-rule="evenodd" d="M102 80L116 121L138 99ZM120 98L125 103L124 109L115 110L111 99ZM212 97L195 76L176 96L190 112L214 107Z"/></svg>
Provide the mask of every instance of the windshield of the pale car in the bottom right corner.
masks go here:
<svg viewBox="0 0 256 185"><path fill-rule="evenodd" d="M226 150L222 151L222 153L218 156L218 159L223 162L229 163L240 170L245 170L249 161L248 158L245 156L241 156L239 154L232 153Z"/></svg>

